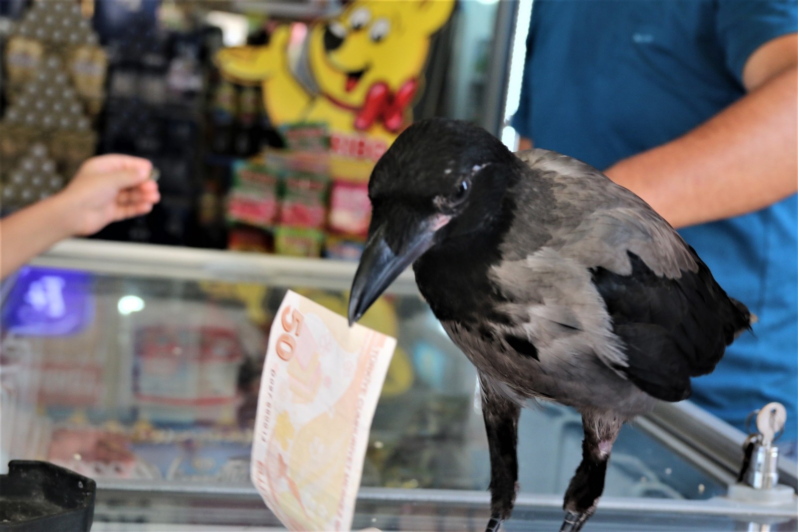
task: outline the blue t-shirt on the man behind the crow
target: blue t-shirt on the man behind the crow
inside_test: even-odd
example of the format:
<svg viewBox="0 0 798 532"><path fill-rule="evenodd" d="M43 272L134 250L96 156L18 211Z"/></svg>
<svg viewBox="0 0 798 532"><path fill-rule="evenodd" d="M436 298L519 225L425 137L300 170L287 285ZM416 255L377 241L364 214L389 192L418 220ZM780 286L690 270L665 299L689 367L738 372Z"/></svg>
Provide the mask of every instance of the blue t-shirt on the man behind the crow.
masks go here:
<svg viewBox="0 0 798 532"><path fill-rule="evenodd" d="M745 95L757 48L798 31L792 0L535 0L512 125L599 169L662 145ZM740 427L770 401L798 439L798 197L681 231L759 317L693 400Z"/></svg>

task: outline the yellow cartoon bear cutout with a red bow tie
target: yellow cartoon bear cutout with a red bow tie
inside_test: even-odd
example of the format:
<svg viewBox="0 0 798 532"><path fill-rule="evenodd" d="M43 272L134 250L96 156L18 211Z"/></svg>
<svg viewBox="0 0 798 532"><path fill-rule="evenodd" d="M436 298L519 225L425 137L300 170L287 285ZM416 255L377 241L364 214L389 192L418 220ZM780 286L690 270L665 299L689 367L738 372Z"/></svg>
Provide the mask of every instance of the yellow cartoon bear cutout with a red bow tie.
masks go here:
<svg viewBox="0 0 798 532"><path fill-rule="evenodd" d="M335 179L366 181L377 159L413 121L429 42L454 0L354 0L308 28L298 60L290 26L266 46L221 50L217 64L234 80L260 83L276 126L324 122Z"/></svg>

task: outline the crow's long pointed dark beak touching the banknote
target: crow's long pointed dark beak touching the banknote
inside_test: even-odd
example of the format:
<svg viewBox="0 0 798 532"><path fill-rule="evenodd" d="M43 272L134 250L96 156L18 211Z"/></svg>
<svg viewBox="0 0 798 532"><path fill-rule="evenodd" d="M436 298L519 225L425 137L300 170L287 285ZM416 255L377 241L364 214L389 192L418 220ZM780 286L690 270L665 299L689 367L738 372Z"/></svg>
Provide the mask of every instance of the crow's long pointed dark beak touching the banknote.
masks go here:
<svg viewBox="0 0 798 532"><path fill-rule="evenodd" d="M438 214L417 222L415 227L409 229L405 245L398 253L394 253L385 241L385 235L389 230L388 224L383 222L377 226L365 243L358 271L355 272L352 281L349 304L350 326L360 320L373 302L385 292L385 288L388 288L409 264L413 264L413 260L423 255L433 245L435 232L448 224L449 219L449 216Z"/></svg>

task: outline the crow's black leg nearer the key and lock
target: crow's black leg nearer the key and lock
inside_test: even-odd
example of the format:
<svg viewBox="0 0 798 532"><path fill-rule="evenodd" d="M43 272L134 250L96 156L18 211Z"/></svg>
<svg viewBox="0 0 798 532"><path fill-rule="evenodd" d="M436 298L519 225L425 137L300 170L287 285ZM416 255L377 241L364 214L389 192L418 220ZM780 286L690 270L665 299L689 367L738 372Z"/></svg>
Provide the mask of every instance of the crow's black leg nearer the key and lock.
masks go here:
<svg viewBox="0 0 798 532"><path fill-rule="evenodd" d="M623 424L610 414L583 414L582 427L585 439L582 442L582 463L565 492L563 510L565 521L560 532L579 532L596 510L596 504L604 490L606 463L618 431Z"/></svg>

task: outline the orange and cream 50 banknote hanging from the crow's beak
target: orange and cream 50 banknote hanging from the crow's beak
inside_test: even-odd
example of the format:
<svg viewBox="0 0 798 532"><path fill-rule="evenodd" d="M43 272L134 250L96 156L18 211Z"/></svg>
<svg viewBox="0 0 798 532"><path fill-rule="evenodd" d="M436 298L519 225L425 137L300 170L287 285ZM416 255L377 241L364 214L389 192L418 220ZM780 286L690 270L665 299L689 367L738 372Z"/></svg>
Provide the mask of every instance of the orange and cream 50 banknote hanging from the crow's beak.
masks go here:
<svg viewBox="0 0 798 532"><path fill-rule="evenodd" d="M396 339L295 292L271 326L250 475L290 530L350 530Z"/></svg>

